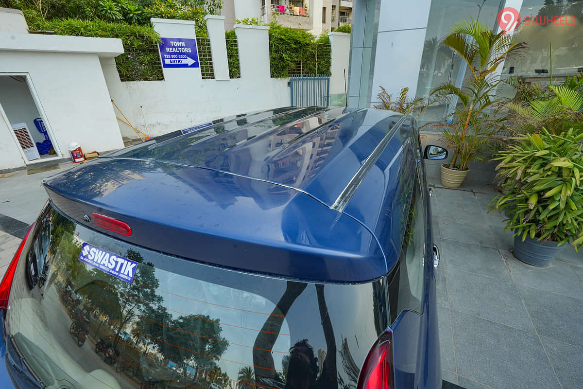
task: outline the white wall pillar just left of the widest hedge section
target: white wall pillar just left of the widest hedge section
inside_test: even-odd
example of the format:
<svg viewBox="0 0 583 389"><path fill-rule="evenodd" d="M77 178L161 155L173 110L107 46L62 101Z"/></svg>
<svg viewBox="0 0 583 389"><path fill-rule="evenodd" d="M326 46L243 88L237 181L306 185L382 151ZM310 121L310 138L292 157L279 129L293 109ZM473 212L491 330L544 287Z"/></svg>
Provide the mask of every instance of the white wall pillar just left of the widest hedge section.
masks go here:
<svg viewBox="0 0 583 389"><path fill-rule="evenodd" d="M271 77L269 68L269 27L235 24L241 78Z"/></svg>

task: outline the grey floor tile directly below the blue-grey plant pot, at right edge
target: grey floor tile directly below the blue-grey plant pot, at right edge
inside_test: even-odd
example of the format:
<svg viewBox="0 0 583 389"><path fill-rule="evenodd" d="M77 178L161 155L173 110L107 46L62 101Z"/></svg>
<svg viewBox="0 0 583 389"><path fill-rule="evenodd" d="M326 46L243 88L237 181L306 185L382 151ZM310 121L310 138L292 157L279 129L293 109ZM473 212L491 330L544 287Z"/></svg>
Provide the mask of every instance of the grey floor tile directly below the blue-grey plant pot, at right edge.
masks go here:
<svg viewBox="0 0 583 389"><path fill-rule="evenodd" d="M512 279L519 285L583 299L583 281L567 262L551 261L547 267L540 268L508 258L507 264Z"/></svg>

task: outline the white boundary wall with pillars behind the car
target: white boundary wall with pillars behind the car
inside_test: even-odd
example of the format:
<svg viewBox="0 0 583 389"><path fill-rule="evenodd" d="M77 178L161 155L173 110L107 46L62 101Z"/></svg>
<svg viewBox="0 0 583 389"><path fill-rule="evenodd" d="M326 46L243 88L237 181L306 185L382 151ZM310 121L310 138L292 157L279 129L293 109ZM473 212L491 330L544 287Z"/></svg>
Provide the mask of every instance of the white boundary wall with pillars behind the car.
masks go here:
<svg viewBox="0 0 583 389"><path fill-rule="evenodd" d="M207 15L205 19L215 79L203 80L199 68L164 68L163 81L121 82L114 59L101 59L111 99L132 125L149 136L290 104L289 78L270 76L269 27L236 24L241 78L229 79L224 17ZM161 37L196 37L191 21L152 19L152 23ZM336 73L336 68L348 69L350 35L335 33L332 41L332 71ZM343 71L332 76L330 90L344 91ZM122 136L136 137L132 128L118 124Z"/></svg>

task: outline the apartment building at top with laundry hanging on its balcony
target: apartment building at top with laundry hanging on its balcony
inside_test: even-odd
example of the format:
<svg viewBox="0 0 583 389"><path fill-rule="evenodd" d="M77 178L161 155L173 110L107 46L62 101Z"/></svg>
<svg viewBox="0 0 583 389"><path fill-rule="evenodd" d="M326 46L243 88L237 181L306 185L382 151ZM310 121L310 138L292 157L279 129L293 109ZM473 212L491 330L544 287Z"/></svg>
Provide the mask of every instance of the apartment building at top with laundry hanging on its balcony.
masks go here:
<svg viewBox="0 0 583 389"><path fill-rule="evenodd" d="M257 17L269 23L275 17L282 26L319 35L352 23L352 0L225 0L222 15L227 30L236 19Z"/></svg>

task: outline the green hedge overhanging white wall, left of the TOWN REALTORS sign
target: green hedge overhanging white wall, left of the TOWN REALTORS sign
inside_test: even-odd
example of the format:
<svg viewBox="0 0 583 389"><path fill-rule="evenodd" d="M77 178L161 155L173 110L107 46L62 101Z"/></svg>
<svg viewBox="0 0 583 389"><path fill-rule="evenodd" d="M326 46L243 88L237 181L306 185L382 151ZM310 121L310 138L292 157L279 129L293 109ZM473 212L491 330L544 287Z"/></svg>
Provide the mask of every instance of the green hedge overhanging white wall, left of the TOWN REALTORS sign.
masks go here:
<svg viewBox="0 0 583 389"><path fill-rule="evenodd" d="M115 63L122 80L164 79L157 49L160 37L152 27L102 20L44 20L39 17L27 17L27 20L33 30L52 30L59 35L120 38L125 52L115 58Z"/></svg>

